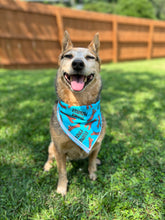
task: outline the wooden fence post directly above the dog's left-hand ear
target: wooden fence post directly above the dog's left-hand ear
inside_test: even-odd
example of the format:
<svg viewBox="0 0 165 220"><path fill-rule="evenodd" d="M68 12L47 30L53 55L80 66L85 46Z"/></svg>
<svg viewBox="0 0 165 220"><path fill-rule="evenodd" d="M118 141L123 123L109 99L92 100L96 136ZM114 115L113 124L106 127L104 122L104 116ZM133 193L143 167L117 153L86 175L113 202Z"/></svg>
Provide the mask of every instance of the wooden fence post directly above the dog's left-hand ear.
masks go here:
<svg viewBox="0 0 165 220"><path fill-rule="evenodd" d="M57 28L58 28L58 41L60 43L60 46L62 47L62 41L63 41L63 36L64 36L64 26L63 26L62 13L60 11L60 8L57 8L55 15L56 15L56 21L57 21Z"/></svg>

